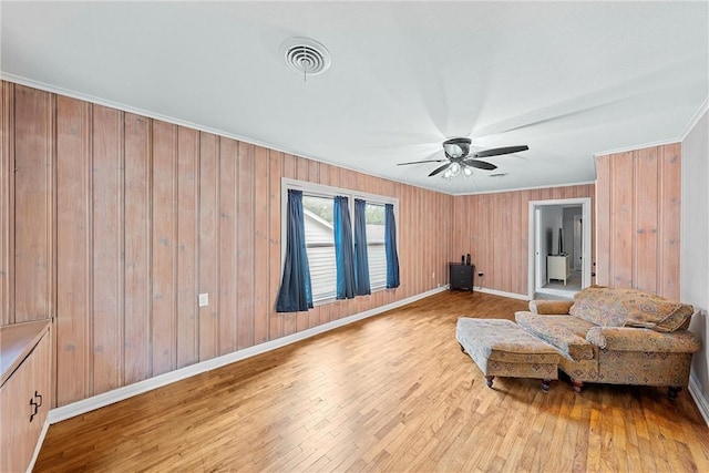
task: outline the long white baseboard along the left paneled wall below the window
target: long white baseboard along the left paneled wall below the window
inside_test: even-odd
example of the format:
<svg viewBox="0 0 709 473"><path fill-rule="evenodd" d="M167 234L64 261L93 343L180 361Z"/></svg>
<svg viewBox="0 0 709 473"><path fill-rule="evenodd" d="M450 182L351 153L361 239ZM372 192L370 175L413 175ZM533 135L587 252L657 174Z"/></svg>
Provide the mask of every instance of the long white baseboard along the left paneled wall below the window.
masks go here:
<svg viewBox="0 0 709 473"><path fill-rule="evenodd" d="M398 300L395 302L391 302L382 307L377 307L374 309L366 310L363 312L356 313L353 316L345 317L339 320L333 320L331 322L323 323L321 326L314 327L311 329L302 330L286 337L281 337L276 340L267 341L265 343L260 343L255 347L249 347L244 350L235 351L233 353L224 354L222 357L217 357L210 360L191 364L188 367L181 368L175 371L171 371L168 373L160 374L154 378L146 379L144 381L138 381L136 383L125 385L123 388L114 389L112 391L94 395L92 398L72 402L71 404L62 405L61 408L52 409L51 411L49 411L48 421L50 424L61 422L63 420L84 414L95 409L100 409L100 408L113 404L115 402L123 401L134 395L142 394L144 392L152 391L157 388L162 388L163 385L184 380L195 374L210 371L216 368L220 368L225 364L234 363L235 361L240 361L246 358L255 357L257 354L266 353L267 351L276 350L277 348L281 348L287 345L291 345L310 337L315 337L316 335L326 332L328 330L332 330L338 327L342 327L348 323L352 323L358 320L362 320L368 317L372 317L378 313L386 312L387 310L395 309L397 307L405 306L407 304L414 302L419 299L433 296L434 294L442 292L444 290L448 290L448 286L442 286L435 289L431 289L427 292L408 297L405 299ZM38 452L39 452L39 446L41 446L41 444L42 442L38 442Z"/></svg>

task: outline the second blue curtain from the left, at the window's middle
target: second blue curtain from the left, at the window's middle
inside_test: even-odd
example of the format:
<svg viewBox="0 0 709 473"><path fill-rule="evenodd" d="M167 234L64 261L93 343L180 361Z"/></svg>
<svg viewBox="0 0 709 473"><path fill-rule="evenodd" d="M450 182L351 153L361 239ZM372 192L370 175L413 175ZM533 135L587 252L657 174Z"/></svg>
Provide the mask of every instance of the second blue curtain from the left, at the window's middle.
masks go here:
<svg viewBox="0 0 709 473"><path fill-rule="evenodd" d="M352 224L347 197L335 197L335 263L337 266L337 298L354 298L354 250Z"/></svg>

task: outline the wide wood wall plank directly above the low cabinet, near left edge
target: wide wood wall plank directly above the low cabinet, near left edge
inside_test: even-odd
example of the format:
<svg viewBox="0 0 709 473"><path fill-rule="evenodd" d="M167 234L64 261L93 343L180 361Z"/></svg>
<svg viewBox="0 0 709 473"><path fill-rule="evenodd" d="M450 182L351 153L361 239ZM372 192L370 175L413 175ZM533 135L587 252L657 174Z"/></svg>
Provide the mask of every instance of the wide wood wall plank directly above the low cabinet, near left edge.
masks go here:
<svg viewBox="0 0 709 473"><path fill-rule="evenodd" d="M23 322L54 313L54 95L14 91L14 321Z"/></svg>

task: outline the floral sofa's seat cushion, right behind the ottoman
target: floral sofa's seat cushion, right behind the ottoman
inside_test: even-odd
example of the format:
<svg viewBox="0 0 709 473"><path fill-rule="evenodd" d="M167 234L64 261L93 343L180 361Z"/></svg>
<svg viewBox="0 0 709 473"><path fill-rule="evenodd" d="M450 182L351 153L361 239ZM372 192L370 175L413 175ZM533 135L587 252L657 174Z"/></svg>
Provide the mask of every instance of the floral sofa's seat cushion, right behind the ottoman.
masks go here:
<svg viewBox="0 0 709 473"><path fill-rule="evenodd" d="M594 348L586 341L593 323L572 316L547 316L520 311L516 322L528 332L552 343L574 360L592 360Z"/></svg>

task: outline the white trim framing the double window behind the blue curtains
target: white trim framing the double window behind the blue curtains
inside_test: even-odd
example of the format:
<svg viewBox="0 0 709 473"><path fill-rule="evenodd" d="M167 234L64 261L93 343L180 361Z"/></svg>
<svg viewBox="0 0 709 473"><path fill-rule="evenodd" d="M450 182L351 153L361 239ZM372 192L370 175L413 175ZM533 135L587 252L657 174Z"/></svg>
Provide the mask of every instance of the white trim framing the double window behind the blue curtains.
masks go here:
<svg viewBox="0 0 709 473"><path fill-rule="evenodd" d="M291 179L289 177L280 178L280 277L282 278L284 267L286 266L286 210L288 209L288 189L302 191L306 195L317 197L335 197L338 195L348 197L348 207L350 210L350 220L354 222L354 199L360 198L372 204L391 204L394 206L394 222L397 223L397 253L399 253L399 198L386 195L369 194L359 191L351 191L342 187L326 186L323 184L310 183L308 181ZM371 291L377 292L386 290L387 285L372 287ZM314 306L322 306L337 300L336 298L320 299L312 301Z"/></svg>

